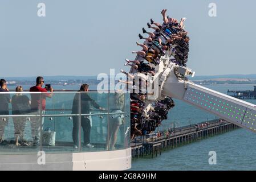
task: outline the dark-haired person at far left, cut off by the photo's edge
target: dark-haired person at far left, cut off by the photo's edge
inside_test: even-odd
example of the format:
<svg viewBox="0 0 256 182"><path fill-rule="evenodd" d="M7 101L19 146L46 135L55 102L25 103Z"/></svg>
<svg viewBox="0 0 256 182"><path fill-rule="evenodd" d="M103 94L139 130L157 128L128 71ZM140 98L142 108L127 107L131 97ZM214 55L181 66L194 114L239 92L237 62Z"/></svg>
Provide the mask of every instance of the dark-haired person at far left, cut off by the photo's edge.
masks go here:
<svg viewBox="0 0 256 182"><path fill-rule="evenodd" d="M9 117L1 117L1 115L9 115L9 103L11 102L9 89L6 80L0 80L0 143L3 142L5 134L5 126L8 124Z"/></svg>

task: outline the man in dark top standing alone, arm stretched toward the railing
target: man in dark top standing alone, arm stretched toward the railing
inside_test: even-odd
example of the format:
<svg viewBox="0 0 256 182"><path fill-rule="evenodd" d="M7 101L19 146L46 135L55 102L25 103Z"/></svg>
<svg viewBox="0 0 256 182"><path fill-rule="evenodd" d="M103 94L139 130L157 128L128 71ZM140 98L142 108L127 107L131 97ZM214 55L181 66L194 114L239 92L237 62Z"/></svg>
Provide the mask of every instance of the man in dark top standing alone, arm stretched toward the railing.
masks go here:
<svg viewBox="0 0 256 182"><path fill-rule="evenodd" d="M81 85L80 90L78 90L78 92L80 93L75 94L71 114L80 114L80 113L90 114L91 105L94 106L96 109L104 110L94 100L92 100L92 98L88 95L88 93L86 93L88 91L89 91L88 84ZM72 137L74 142L74 148L78 148L78 145L79 145L79 140L78 140L79 119L81 119L81 126L83 128L83 133L84 133L84 146L88 148L93 148L94 146L90 143L91 122L88 117L84 117L84 116L73 117Z"/></svg>

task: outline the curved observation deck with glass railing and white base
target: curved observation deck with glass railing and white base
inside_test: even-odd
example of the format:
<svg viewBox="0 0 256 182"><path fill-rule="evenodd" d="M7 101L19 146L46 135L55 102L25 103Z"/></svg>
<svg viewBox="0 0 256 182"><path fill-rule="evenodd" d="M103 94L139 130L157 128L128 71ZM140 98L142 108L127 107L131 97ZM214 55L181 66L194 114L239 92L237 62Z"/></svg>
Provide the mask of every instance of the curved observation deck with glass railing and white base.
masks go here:
<svg viewBox="0 0 256 182"><path fill-rule="evenodd" d="M47 96L49 92L0 93L1 102L6 98L11 99L8 113L3 107L3 102L0 107L0 122L4 130L4 140L0 144L0 170L131 168L129 94L119 93L119 102L116 102L115 93L54 92L51 98ZM91 103L90 107L85 106L88 100L84 102L84 97L88 96L104 110L95 108ZM37 100L37 110L32 108L33 103L30 104L31 97ZM78 132L74 132L78 134L77 148L74 147L72 134L74 118L78 122ZM84 132L88 132L88 125L86 131L83 131L84 120L91 126L90 143L93 148L84 144ZM39 125L36 126L35 121L38 121ZM121 123L117 124L116 121ZM116 138L113 137L115 131ZM37 132L38 144L35 144L34 135ZM21 146L17 146L15 142L17 136Z"/></svg>

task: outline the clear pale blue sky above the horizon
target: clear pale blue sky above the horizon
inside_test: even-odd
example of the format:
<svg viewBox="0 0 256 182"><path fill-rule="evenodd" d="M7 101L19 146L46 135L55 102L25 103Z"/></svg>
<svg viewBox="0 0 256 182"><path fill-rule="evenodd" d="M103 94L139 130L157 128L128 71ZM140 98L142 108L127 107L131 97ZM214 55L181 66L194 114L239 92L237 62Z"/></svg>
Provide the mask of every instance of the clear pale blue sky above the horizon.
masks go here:
<svg viewBox="0 0 256 182"><path fill-rule="evenodd" d="M46 5L45 17L38 3ZM216 3L216 17L208 15L209 3ZM255 8L250 0L1 0L0 77L117 73L140 49L141 28L151 18L162 22L162 9L187 18L187 66L196 75L253 74Z"/></svg>

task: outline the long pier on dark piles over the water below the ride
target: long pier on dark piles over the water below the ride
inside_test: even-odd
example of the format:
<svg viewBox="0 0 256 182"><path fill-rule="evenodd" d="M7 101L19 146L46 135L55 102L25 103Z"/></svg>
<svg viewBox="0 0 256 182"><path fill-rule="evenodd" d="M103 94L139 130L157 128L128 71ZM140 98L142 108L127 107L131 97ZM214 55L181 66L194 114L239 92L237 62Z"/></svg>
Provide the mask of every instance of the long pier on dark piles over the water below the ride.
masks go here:
<svg viewBox="0 0 256 182"><path fill-rule="evenodd" d="M208 122L198 123L172 129L167 133L160 132L160 137L141 137L131 140L132 158L155 157L161 155L162 151L183 146L197 140L206 139L226 133L227 131L241 127L223 119L214 119Z"/></svg>

